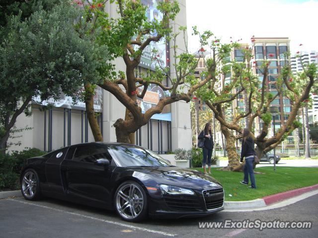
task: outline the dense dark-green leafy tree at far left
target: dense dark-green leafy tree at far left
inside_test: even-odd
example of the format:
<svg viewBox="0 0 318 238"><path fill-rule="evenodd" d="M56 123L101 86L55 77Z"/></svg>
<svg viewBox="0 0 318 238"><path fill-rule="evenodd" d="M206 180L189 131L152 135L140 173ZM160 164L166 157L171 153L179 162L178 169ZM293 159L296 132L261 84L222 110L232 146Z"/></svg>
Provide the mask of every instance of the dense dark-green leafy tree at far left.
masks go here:
<svg viewBox="0 0 318 238"><path fill-rule="evenodd" d="M97 83L109 67L105 46L79 36L73 24L82 13L68 0L16 1L4 7L0 28L0 150L5 153L17 117L31 115L33 97L73 96ZM21 7L17 11L16 7ZM13 9L10 11L10 9ZM25 12L23 12L25 10Z"/></svg>

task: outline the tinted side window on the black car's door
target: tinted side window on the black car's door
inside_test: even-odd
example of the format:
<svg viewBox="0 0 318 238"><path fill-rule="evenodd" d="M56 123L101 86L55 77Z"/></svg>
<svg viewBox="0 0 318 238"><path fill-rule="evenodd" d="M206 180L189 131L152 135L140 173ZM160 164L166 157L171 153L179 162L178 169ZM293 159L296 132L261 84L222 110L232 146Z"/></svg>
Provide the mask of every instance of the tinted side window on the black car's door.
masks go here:
<svg viewBox="0 0 318 238"><path fill-rule="evenodd" d="M73 161L94 163L97 159L109 159L106 149L100 146L77 147Z"/></svg>

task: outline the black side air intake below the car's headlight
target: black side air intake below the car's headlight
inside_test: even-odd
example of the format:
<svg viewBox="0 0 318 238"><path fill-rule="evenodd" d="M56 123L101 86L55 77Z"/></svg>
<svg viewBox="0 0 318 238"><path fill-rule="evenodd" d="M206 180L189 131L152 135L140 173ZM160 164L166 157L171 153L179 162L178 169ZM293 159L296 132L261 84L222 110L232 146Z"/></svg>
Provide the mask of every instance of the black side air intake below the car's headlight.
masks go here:
<svg viewBox="0 0 318 238"><path fill-rule="evenodd" d="M167 206L173 210L178 211L202 211L199 200L188 198L164 198Z"/></svg>

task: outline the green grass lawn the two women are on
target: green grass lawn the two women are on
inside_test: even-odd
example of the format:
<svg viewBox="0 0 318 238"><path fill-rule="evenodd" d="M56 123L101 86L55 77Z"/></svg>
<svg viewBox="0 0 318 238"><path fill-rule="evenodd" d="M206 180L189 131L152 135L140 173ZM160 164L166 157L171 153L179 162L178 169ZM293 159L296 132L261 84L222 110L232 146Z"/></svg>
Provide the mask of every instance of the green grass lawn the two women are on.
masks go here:
<svg viewBox="0 0 318 238"><path fill-rule="evenodd" d="M202 168L194 168L203 172ZM212 168L212 177L224 187L226 201L245 201L318 184L318 168L260 167L255 170L264 174L255 175L256 189L240 184L243 173L220 171ZM249 184L250 185L250 184ZM232 196L231 196L232 195Z"/></svg>

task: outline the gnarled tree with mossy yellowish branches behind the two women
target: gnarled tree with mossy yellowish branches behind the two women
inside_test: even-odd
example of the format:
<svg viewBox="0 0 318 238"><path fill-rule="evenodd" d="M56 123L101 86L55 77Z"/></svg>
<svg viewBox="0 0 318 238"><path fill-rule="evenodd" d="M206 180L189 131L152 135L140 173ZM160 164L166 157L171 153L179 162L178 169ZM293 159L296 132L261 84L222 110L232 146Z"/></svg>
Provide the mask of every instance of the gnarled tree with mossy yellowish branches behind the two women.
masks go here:
<svg viewBox="0 0 318 238"><path fill-rule="evenodd" d="M215 45L212 45L212 47L213 50L219 50ZM258 79L251 74L251 65L249 65L249 62L253 57L251 50L246 49L244 51L244 55L243 63L232 62L231 67L234 71L234 76L232 77L232 82L229 85L225 85L223 88L218 90L215 90L213 87L208 88L213 91L213 94L211 94L209 90L199 90L201 93L200 97L203 97L204 101L206 101L207 105L215 113L216 119L218 119L221 123L221 130L227 140L227 150L229 154L228 169L232 171L241 171L242 169L242 166L239 164L239 156L235 149L235 140L241 138L241 135L236 136L233 133L233 131L238 133L241 133L242 131L242 126L239 125L239 120L249 117L248 128L253 131L254 119L262 119L264 121L264 125L260 134L256 137L254 133L251 132L250 135L257 145L256 149L258 156L261 156L263 152L272 150L295 128L300 126L300 123L296 120L298 110L302 107L303 102L308 99L310 91L314 85L315 78L317 77L317 67L315 64L306 65L304 67L304 72L298 77L293 77L290 65L285 64L282 68L281 75L276 82L278 93L276 95L272 95L271 93L266 92L267 68L269 66L269 62L264 60L262 65L255 65L263 73L262 86L257 90ZM224 65L222 58L219 62L221 63L219 68L223 68L223 72L218 72L215 68L208 68L209 74L221 75L227 72L226 70L228 69L222 67ZM254 63L256 64L257 62L255 61ZM233 88L238 88L238 90L232 91ZM249 95L248 112L245 114L241 113L229 121L229 119L224 116L224 110L231 106L229 103L244 90L246 90ZM230 93L231 91L232 93ZM282 125L278 132L269 138L267 137L268 127L271 124L272 119L272 116L269 113L269 106L280 94L283 94L291 100L291 114L287 122Z"/></svg>

